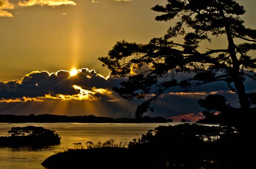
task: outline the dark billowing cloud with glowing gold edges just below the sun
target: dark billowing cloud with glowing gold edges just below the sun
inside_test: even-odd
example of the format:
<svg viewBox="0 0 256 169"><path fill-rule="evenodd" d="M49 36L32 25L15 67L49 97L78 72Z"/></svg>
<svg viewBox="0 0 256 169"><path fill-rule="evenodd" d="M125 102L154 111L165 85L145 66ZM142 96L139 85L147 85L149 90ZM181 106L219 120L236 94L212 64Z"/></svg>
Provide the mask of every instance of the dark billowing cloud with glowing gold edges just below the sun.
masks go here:
<svg viewBox="0 0 256 169"><path fill-rule="evenodd" d="M89 69L79 69L72 77L65 70L51 74L34 71L22 80L0 82L0 101L99 100L110 95L112 86L118 83L120 80L113 76L104 77Z"/></svg>

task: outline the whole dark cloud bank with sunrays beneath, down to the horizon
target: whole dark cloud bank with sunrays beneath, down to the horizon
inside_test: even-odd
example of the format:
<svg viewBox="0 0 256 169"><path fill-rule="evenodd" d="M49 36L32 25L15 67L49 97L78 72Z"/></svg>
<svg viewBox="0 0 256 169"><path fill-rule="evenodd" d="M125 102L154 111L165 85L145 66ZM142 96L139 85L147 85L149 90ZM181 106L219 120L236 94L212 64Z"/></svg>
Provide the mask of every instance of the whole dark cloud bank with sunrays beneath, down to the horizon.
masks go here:
<svg viewBox="0 0 256 169"><path fill-rule="evenodd" d="M22 80L0 82L0 114L27 115L99 115L109 117L134 117L138 104L143 100L124 100L112 92L113 86L126 78L103 77L94 70L79 69L70 77L68 71L49 74L46 71L31 72ZM245 81L252 92L254 82ZM238 106L237 96L229 92L225 83L212 83L193 87L188 93L183 89L172 88L154 103L154 112L149 116L172 117L191 112L202 112L197 100L209 93L227 97L231 105Z"/></svg>

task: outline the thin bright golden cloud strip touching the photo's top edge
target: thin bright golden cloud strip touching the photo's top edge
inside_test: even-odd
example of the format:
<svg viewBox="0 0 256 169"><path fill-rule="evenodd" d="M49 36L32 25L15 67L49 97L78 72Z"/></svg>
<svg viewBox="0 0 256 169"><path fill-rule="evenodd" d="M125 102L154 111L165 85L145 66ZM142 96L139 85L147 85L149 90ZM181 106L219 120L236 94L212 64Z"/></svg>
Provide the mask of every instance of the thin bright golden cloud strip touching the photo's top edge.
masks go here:
<svg viewBox="0 0 256 169"><path fill-rule="evenodd" d="M61 5L72 5L76 3L73 0L20 0L18 6L61 6Z"/></svg>

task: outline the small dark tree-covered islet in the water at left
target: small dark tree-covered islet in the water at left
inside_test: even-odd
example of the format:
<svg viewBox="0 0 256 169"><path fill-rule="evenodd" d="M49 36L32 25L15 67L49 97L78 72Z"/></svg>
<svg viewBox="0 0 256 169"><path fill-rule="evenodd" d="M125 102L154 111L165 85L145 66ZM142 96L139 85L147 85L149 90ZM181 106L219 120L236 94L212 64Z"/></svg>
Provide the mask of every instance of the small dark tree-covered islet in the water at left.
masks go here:
<svg viewBox="0 0 256 169"><path fill-rule="evenodd" d="M59 144L61 137L43 127L12 127L10 136L0 137L0 146L48 146Z"/></svg>

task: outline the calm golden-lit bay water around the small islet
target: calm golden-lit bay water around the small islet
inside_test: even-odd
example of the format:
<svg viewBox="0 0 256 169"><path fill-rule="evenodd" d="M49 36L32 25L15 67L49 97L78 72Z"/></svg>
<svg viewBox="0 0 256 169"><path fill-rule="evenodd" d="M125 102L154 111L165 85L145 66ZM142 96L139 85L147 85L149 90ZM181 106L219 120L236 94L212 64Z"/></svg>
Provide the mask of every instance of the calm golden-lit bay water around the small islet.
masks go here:
<svg viewBox="0 0 256 169"><path fill-rule="evenodd" d="M45 147L0 147L0 169L45 169L41 163L47 157L73 147L73 143L97 143L113 139L128 143L141 137L149 129L178 123L0 123L0 136L6 136L12 127L42 126L61 136L61 144Z"/></svg>

